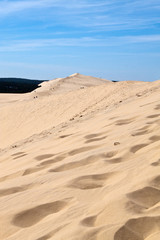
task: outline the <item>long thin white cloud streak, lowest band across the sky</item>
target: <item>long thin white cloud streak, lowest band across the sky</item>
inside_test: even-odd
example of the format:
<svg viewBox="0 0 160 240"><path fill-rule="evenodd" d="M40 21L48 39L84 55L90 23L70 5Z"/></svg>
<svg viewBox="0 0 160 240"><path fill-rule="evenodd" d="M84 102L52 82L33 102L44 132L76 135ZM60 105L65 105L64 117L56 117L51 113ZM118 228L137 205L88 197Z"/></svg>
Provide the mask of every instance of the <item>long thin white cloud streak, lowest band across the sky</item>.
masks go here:
<svg viewBox="0 0 160 240"><path fill-rule="evenodd" d="M26 51L39 48L55 47L110 47L126 44L160 43L160 35L120 36L108 38L55 38L55 39L30 39L14 40L12 43L1 43L0 51Z"/></svg>

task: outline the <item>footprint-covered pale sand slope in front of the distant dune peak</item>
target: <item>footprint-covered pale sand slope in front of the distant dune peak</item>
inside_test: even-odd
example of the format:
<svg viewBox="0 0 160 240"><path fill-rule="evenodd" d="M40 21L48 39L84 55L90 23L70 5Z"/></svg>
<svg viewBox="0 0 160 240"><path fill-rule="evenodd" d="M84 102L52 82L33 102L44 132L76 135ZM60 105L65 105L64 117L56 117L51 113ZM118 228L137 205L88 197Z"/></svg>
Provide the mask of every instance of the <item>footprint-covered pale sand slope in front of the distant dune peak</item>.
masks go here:
<svg viewBox="0 0 160 240"><path fill-rule="evenodd" d="M97 85L0 102L0 239L160 239L159 81Z"/></svg>

